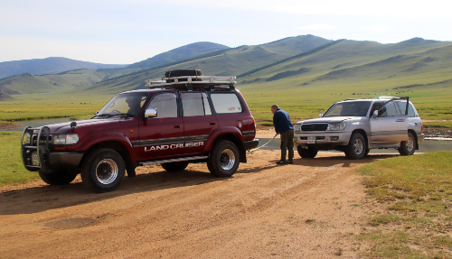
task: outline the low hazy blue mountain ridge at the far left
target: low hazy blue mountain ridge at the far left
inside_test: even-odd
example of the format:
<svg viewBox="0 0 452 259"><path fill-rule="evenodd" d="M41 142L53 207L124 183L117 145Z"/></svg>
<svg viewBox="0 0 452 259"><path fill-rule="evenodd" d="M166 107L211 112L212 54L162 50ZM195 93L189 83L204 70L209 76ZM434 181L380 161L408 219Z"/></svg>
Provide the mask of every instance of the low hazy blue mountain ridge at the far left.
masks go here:
<svg viewBox="0 0 452 259"><path fill-rule="evenodd" d="M0 79L30 73L32 75L55 74L74 69L117 69L127 65L107 65L66 58L16 60L0 62Z"/></svg>

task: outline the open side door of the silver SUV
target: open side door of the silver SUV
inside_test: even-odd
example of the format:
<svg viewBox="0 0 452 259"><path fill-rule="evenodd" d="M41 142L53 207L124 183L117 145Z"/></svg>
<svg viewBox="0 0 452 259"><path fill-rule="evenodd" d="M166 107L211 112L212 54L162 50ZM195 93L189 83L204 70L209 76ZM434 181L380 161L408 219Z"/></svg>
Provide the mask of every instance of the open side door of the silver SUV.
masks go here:
<svg viewBox="0 0 452 259"><path fill-rule="evenodd" d="M400 143L408 140L408 116L400 114L399 106L396 106L395 102L395 99L386 102L378 109L378 116L371 115L371 144ZM379 104L381 102L377 101L373 106Z"/></svg>

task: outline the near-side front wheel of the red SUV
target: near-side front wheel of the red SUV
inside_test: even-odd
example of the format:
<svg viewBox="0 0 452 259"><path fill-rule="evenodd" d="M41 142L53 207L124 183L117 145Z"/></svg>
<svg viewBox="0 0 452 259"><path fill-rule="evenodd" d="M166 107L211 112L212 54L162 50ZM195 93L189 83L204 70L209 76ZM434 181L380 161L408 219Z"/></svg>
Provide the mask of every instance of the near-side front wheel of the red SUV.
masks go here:
<svg viewBox="0 0 452 259"><path fill-rule="evenodd" d="M126 166L121 155L109 148L89 153L80 170L83 184L99 192L117 189L125 173Z"/></svg>

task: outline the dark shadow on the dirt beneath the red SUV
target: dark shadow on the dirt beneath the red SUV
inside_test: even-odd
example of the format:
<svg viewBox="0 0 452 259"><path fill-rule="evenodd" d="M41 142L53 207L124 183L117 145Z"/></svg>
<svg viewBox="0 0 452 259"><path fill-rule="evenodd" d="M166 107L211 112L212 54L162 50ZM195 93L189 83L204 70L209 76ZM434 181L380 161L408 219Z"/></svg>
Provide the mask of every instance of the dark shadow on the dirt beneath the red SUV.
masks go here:
<svg viewBox="0 0 452 259"><path fill-rule="evenodd" d="M267 170L269 167L255 167L239 169L237 173L249 173ZM230 180L232 177L214 177L209 171L197 171L196 168L188 168L186 171L168 172L163 169L149 172L141 171L136 177L122 181L117 190L96 193L84 187L77 177L74 182L62 185L42 185L30 188L7 190L0 193L0 215L32 214L55 208L68 208L101 200L115 199L141 192L152 192L155 190L177 189L202 185L214 181Z"/></svg>

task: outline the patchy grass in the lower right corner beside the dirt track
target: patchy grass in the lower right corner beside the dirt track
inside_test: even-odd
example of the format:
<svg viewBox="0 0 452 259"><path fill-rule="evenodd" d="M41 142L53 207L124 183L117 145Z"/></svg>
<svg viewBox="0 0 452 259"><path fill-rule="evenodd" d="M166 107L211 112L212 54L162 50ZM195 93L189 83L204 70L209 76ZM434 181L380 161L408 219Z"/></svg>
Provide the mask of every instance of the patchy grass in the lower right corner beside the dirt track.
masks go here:
<svg viewBox="0 0 452 259"><path fill-rule="evenodd" d="M452 152L400 156L364 165L364 185L387 213L360 238L369 258L451 258Z"/></svg>

